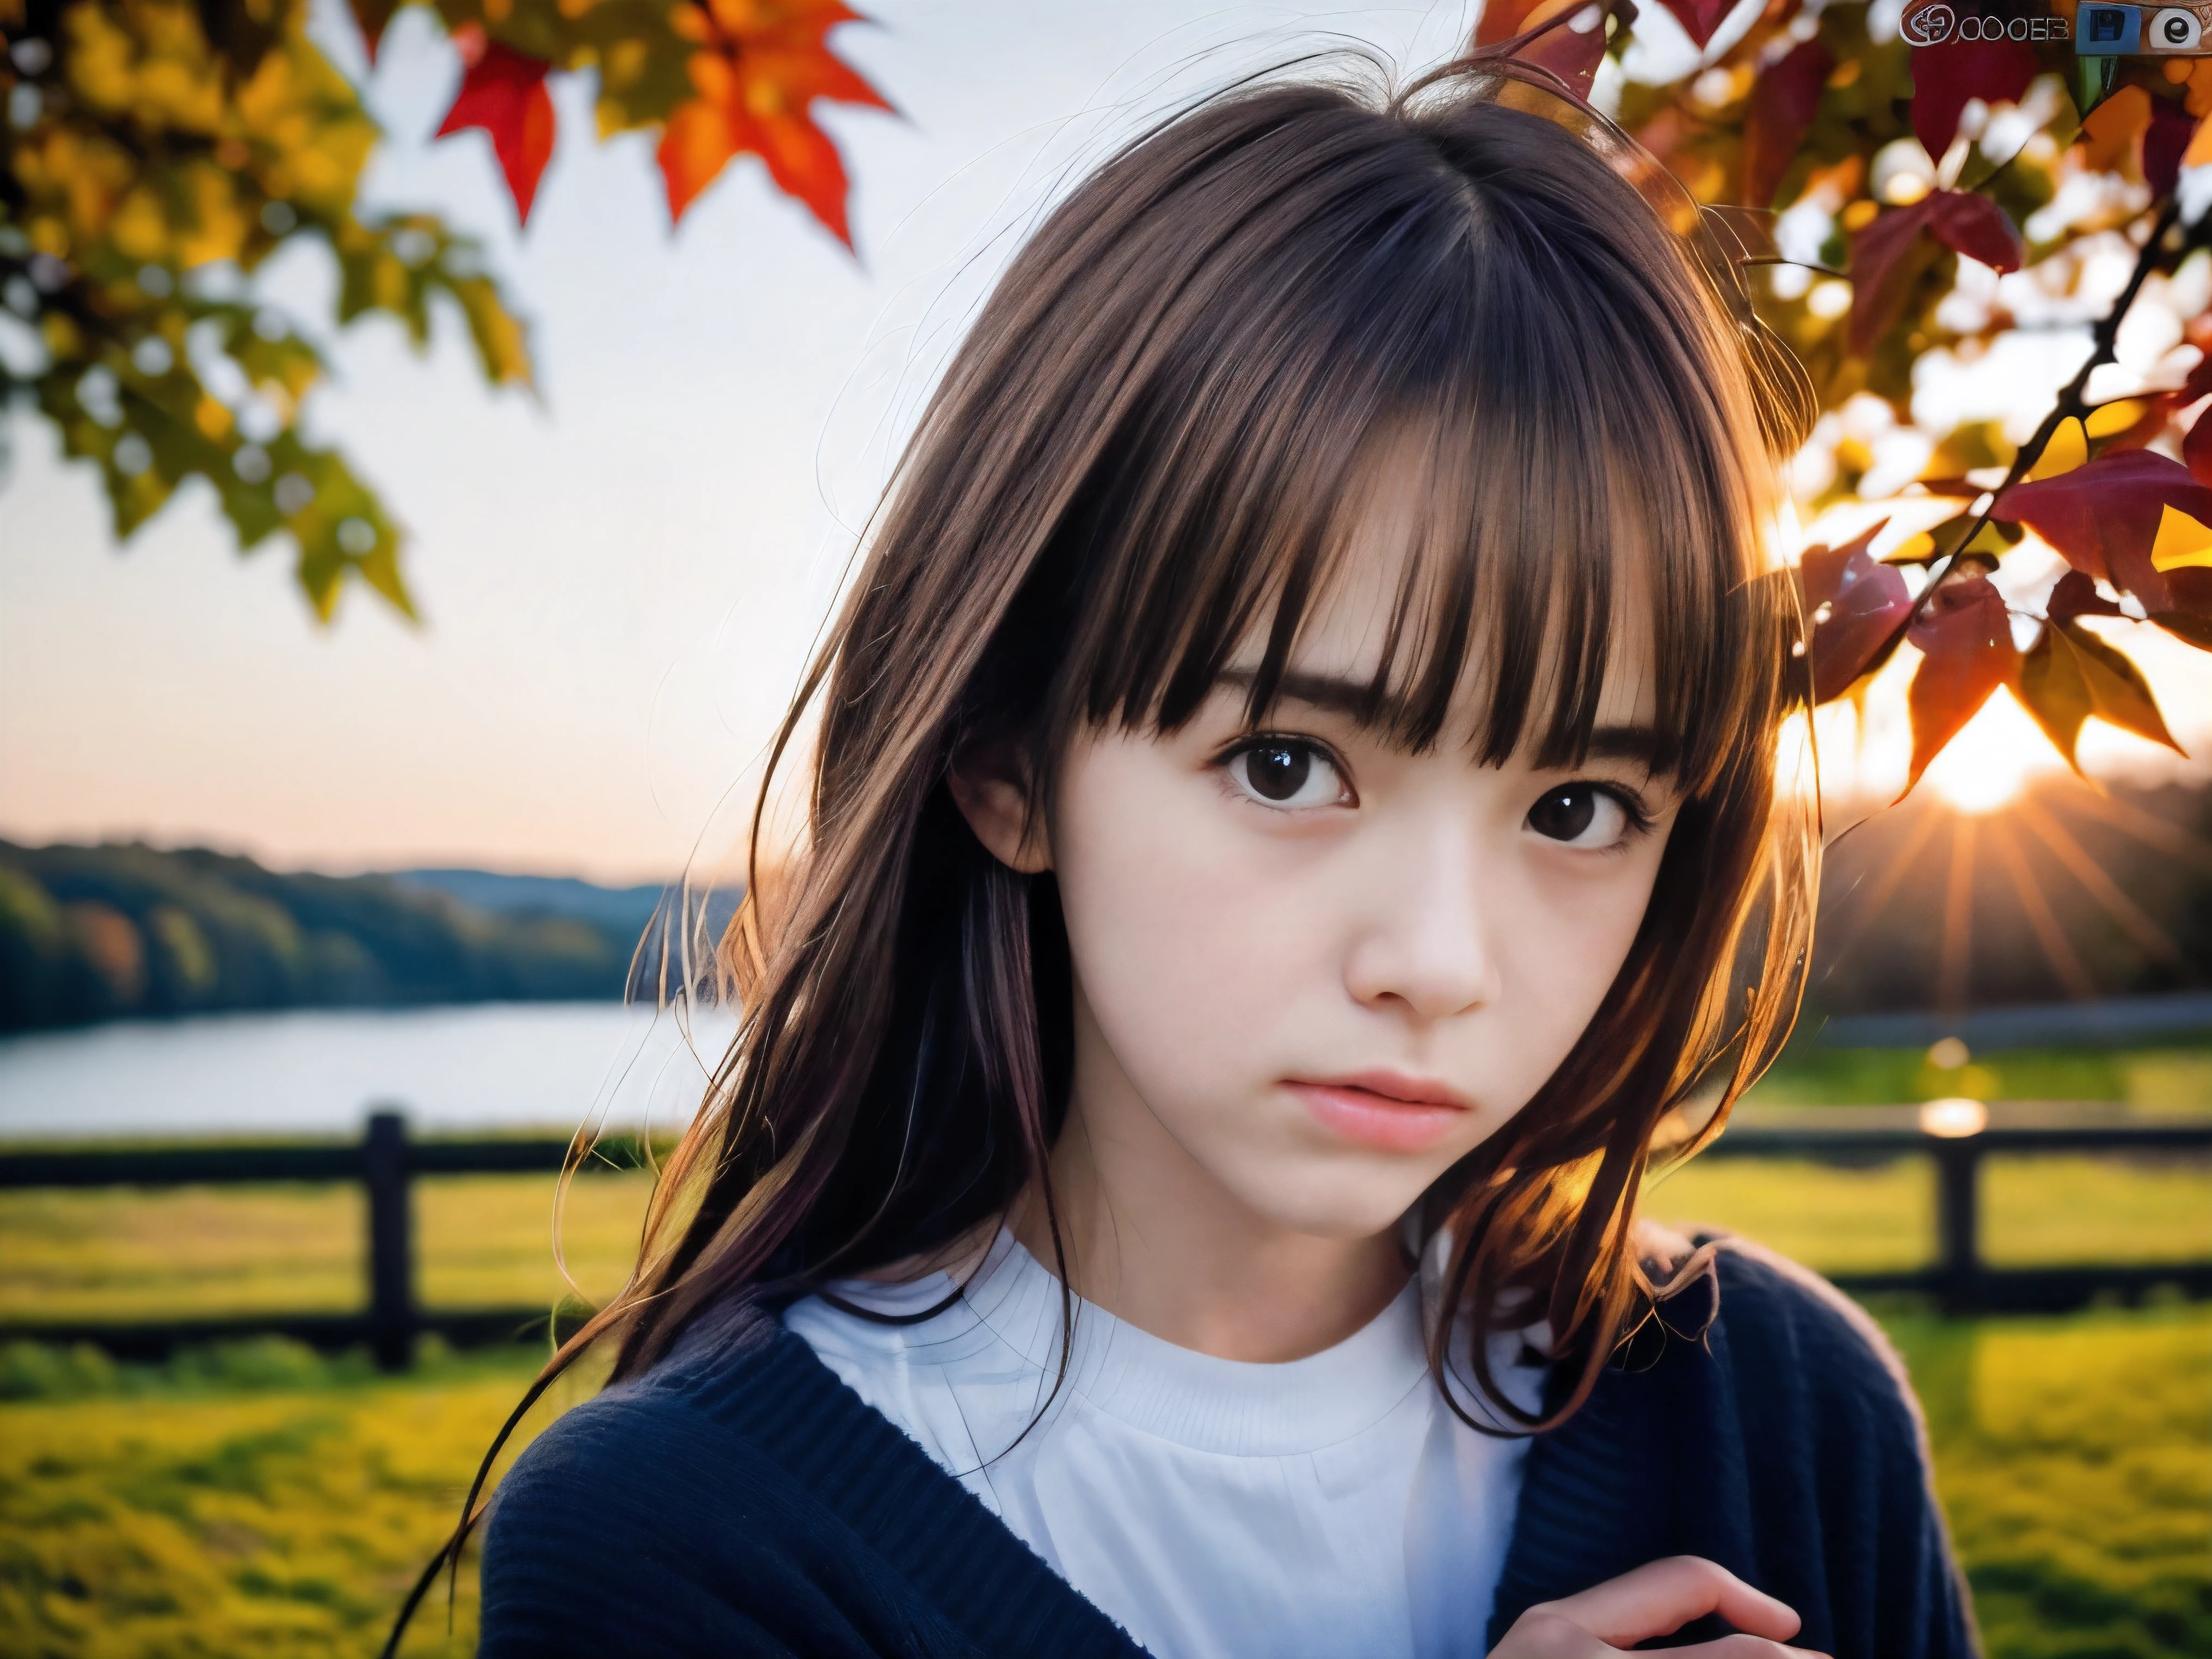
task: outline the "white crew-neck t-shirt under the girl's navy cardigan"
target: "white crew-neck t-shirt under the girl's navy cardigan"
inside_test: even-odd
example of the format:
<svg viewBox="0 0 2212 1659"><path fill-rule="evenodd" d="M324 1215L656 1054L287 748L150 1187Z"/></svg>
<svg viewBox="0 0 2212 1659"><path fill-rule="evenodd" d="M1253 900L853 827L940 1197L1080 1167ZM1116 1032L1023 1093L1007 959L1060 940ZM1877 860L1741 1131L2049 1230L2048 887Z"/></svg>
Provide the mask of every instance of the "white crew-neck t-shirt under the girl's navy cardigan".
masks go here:
<svg viewBox="0 0 2212 1659"><path fill-rule="evenodd" d="M832 1287L880 1314L951 1292L947 1274ZM1175 1347L1077 1301L1042 1420L1060 1281L1006 1232L933 1318L880 1325L807 1296L783 1323L1157 1659L1484 1652L1528 1442L1438 1396L1420 1281L1287 1365ZM1493 1374L1533 1409L1544 1374L1522 1354L1498 1338Z"/></svg>

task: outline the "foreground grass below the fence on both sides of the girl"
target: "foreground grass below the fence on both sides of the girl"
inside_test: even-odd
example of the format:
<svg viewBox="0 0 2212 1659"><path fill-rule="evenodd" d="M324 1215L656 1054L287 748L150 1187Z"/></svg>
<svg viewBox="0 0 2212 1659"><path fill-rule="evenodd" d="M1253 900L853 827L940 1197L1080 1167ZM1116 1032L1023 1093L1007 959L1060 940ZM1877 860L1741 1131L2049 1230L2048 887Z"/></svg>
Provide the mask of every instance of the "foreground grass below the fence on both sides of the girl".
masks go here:
<svg viewBox="0 0 2212 1659"><path fill-rule="evenodd" d="M2212 1310L1891 1316L1991 1659L2212 1652ZM0 1354L0 1650L374 1655L531 1358L405 1380L241 1345L166 1371ZM35 1376L33 1376L35 1374ZM535 1425L533 1425L535 1427ZM467 1575L451 1635L473 1648Z"/></svg>

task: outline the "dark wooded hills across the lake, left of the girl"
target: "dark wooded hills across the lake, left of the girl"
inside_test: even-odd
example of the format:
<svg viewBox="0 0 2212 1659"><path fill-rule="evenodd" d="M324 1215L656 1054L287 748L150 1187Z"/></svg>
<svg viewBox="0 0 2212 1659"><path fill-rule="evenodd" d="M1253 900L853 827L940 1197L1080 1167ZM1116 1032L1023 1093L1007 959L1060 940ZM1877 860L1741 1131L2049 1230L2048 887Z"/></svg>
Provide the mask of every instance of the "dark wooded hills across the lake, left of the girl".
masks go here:
<svg viewBox="0 0 2212 1659"><path fill-rule="evenodd" d="M215 1009L617 998L641 925L392 876L0 841L0 1031Z"/></svg>

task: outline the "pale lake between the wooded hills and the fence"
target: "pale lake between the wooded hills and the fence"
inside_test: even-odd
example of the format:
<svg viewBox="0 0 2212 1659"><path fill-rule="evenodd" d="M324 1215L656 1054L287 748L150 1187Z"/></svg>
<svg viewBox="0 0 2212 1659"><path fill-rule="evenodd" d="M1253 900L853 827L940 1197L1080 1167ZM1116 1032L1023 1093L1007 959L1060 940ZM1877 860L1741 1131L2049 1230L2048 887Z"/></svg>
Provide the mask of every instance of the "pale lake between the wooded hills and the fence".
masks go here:
<svg viewBox="0 0 2212 1659"><path fill-rule="evenodd" d="M0 1040L0 1139L356 1135L396 1104L416 1133L551 1128L604 1110L681 1128L734 1020L619 1002L294 1009L126 1020Z"/></svg>

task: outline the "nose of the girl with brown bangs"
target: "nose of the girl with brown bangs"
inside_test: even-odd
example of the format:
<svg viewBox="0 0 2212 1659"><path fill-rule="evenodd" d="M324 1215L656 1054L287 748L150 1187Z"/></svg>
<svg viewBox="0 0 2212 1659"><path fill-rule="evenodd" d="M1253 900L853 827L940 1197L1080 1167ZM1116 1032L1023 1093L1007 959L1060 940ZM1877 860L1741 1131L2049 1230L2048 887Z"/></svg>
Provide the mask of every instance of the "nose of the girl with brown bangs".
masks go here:
<svg viewBox="0 0 2212 1659"><path fill-rule="evenodd" d="M1502 993L1495 918L1482 902L1482 860L1458 827L1400 845L1369 885L1363 927L1345 960L1345 989L1369 1009L1449 1020Z"/></svg>

